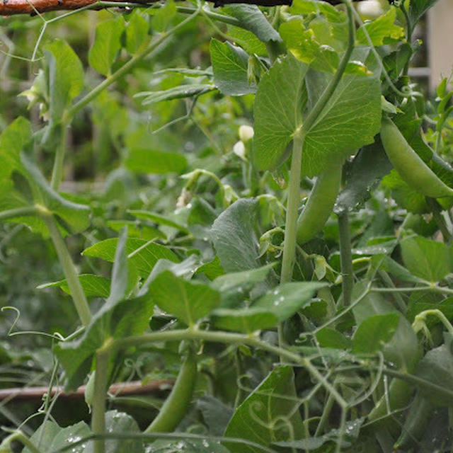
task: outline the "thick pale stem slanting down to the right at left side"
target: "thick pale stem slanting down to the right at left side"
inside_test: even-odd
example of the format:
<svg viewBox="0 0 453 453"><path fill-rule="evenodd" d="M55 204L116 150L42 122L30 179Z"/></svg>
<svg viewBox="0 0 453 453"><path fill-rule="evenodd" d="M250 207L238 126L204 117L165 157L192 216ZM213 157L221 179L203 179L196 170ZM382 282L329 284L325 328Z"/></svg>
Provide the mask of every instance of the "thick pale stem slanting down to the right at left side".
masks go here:
<svg viewBox="0 0 453 453"><path fill-rule="evenodd" d="M59 263L62 265L64 276L66 277L69 290L71 291L72 300L76 306L77 314L83 326L88 326L91 322L91 311L86 301L84 289L81 287L79 275L77 275L76 268L72 262L71 255L67 249L66 243L59 232L55 219L51 212L41 207L41 217L49 229L50 237L57 251Z"/></svg>

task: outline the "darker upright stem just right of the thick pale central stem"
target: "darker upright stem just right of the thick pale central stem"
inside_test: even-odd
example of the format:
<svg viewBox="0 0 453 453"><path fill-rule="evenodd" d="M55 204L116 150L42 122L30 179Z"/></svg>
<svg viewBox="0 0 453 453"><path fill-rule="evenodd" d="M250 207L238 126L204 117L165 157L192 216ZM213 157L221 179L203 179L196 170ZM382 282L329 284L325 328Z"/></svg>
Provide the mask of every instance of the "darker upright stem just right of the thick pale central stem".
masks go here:
<svg viewBox="0 0 453 453"><path fill-rule="evenodd" d="M343 287L343 306L348 306L351 303L352 287L354 286L348 212L344 211L338 214L338 234L340 239L340 267L343 277L341 282Z"/></svg>

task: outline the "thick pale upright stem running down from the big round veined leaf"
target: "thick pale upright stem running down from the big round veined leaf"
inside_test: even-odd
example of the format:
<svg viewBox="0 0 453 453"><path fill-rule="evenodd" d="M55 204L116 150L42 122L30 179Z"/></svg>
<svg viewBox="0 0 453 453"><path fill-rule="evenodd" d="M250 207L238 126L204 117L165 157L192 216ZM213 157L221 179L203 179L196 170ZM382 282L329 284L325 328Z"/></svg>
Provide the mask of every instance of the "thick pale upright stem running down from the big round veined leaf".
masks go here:
<svg viewBox="0 0 453 453"><path fill-rule="evenodd" d="M289 171L288 201L286 207L285 243L283 246L280 284L292 280L292 270L296 256L297 208L300 204L299 190L303 144L304 137L297 131L294 134L292 144L291 170Z"/></svg>

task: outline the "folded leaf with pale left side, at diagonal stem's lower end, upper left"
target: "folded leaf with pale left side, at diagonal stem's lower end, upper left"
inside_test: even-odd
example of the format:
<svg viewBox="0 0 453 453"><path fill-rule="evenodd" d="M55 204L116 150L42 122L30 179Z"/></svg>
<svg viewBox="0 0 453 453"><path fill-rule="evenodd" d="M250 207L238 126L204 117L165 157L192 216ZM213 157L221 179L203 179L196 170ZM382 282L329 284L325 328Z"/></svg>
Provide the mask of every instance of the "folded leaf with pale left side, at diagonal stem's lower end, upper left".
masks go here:
<svg viewBox="0 0 453 453"><path fill-rule="evenodd" d="M50 115L57 123L84 87L84 68L76 52L63 40L47 45L45 57L49 68Z"/></svg>

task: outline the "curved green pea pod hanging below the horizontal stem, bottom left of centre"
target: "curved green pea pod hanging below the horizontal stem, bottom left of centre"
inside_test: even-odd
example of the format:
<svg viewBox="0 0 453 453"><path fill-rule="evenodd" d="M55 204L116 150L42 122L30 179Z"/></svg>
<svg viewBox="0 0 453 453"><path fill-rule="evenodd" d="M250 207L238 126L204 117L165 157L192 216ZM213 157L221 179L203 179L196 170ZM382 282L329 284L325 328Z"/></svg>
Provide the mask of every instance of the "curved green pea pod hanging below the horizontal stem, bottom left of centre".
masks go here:
<svg viewBox="0 0 453 453"><path fill-rule="evenodd" d="M171 432L183 420L192 401L197 379L197 360L195 352L190 350L179 370L176 382L171 389L171 393L161 407L159 414L152 421L151 425L145 430L150 432Z"/></svg>

